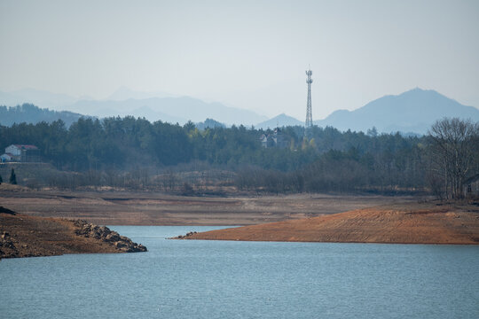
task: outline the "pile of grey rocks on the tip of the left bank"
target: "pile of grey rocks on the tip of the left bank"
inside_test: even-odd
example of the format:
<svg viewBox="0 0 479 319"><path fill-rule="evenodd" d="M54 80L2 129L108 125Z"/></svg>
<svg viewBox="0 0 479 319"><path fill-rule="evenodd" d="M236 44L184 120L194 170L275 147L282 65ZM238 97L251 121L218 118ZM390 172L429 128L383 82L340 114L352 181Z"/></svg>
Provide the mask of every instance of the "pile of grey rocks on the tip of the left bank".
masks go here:
<svg viewBox="0 0 479 319"><path fill-rule="evenodd" d="M83 237L93 237L100 239L105 243L114 245L114 247L124 253L146 252L146 247L131 241L129 237L124 237L106 226L98 226L82 220L74 222L78 228L75 234Z"/></svg>

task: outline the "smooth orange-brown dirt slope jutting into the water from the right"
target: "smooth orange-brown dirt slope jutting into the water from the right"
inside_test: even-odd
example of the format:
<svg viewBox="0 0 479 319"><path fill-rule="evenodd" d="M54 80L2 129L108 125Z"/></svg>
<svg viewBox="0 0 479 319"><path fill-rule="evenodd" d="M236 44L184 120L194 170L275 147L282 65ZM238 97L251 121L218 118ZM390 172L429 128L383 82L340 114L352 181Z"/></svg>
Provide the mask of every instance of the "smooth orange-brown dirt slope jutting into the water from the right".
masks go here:
<svg viewBox="0 0 479 319"><path fill-rule="evenodd" d="M479 245L479 207L373 207L295 221L189 233L182 238Z"/></svg>

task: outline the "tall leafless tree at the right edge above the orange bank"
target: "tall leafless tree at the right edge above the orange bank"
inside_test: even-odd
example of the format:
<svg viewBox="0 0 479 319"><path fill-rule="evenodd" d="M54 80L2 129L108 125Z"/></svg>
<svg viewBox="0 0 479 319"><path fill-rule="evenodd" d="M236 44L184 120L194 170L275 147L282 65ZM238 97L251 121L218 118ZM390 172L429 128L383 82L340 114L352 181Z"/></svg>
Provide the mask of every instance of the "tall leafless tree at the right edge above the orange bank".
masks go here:
<svg viewBox="0 0 479 319"><path fill-rule="evenodd" d="M463 198L467 174L476 165L479 123L458 118L436 121L429 129L432 170L444 183L446 198Z"/></svg>

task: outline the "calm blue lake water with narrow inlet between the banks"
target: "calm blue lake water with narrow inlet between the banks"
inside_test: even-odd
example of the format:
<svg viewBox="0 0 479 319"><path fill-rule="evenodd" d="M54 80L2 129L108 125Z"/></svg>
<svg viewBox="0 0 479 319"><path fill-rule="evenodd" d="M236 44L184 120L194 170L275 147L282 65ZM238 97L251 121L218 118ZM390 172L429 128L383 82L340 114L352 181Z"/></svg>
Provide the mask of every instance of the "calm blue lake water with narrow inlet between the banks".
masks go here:
<svg viewBox="0 0 479 319"><path fill-rule="evenodd" d="M479 246L166 240L0 262L1 318L479 318Z"/></svg>

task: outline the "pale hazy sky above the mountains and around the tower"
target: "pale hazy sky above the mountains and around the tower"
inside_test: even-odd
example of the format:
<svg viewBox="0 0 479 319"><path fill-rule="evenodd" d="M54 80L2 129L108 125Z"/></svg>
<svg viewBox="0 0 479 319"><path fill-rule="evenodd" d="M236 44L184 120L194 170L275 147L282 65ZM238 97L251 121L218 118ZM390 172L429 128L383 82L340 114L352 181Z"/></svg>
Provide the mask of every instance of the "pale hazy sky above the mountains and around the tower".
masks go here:
<svg viewBox="0 0 479 319"><path fill-rule="evenodd" d="M436 89L479 107L479 1L5 1L0 90L120 86L303 121Z"/></svg>

